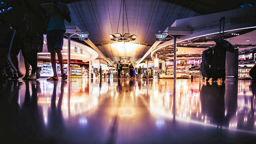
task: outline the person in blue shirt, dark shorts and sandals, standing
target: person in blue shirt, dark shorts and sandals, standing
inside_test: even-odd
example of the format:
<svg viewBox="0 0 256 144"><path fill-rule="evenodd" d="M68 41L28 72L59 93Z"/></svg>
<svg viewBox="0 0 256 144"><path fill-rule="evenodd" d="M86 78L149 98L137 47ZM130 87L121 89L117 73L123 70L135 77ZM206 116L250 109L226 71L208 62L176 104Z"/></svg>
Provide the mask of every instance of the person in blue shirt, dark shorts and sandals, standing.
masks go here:
<svg viewBox="0 0 256 144"><path fill-rule="evenodd" d="M58 80L57 69L56 69L56 53L58 55L58 60L60 62L60 72L62 80L66 80L68 76L63 72L63 60L62 60L62 46L63 37L66 32L66 27L64 21L67 20L71 22L69 16L70 11L68 5L60 2L60 0L52 0L56 8L56 12L49 13L50 21L47 28L47 49L51 52L51 62L53 76L47 80Z"/></svg>

